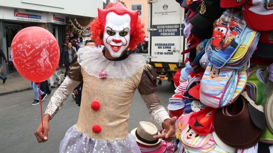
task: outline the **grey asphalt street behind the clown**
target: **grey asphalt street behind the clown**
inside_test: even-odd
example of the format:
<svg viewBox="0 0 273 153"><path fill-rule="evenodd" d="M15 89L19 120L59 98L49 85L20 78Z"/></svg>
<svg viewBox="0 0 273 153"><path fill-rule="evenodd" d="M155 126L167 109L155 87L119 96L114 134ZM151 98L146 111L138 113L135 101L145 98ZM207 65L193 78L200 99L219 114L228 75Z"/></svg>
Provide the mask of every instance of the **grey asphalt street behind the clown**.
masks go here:
<svg viewBox="0 0 273 153"><path fill-rule="evenodd" d="M165 108L174 90L173 85L167 81L162 81L162 85L159 85L157 95ZM50 97L42 102L43 112ZM63 108L49 122L49 140L39 144L33 132L41 121L40 104L32 106L33 99L33 90L0 96L1 153L58 153L59 143L65 132L77 122L80 107L70 95ZM136 128L139 121L153 122L139 92L136 91L130 107L128 132Z"/></svg>

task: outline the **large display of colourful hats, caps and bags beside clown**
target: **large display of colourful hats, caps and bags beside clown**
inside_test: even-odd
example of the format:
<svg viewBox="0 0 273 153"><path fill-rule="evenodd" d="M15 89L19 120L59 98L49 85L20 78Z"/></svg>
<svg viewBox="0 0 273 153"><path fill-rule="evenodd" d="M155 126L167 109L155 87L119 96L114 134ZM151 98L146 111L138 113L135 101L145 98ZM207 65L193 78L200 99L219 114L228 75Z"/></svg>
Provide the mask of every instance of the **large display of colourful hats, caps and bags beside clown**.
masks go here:
<svg viewBox="0 0 273 153"><path fill-rule="evenodd" d="M186 13L185 81L168 107L183 107L177 152L273 151L273 0L176 2Z"/></svg>

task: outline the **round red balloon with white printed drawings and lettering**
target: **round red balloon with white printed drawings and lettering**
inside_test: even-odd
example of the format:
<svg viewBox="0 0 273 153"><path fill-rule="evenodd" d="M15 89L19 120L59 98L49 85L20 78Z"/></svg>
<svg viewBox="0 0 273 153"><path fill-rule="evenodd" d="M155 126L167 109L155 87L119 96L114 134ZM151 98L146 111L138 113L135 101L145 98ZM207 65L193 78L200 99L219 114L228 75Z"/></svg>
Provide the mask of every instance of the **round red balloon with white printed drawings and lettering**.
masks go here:
<svg viewBox="0 0 273 153"><path fill-rule="evenodd" d="M60 48L48 30L28 27L15 35L10 54L15 68L25 79L42 82L55 72L59 64Z"/></svg>

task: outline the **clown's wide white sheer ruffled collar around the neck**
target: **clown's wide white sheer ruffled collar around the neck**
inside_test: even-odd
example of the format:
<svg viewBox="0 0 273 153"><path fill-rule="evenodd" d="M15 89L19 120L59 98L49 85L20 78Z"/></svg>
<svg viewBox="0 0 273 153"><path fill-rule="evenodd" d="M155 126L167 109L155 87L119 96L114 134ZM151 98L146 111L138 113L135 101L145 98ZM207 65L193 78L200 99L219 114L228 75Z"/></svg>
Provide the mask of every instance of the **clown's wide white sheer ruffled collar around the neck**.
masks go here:
<svg viewBox="0 0 273 153"><path fill-rule="evenodd" d="M128 79L139 72L148 62L148 54L130 54L121 61L111 61L104 57L100 48L81 46L78 51L78 62L89 74L98 78Z"/></svg>

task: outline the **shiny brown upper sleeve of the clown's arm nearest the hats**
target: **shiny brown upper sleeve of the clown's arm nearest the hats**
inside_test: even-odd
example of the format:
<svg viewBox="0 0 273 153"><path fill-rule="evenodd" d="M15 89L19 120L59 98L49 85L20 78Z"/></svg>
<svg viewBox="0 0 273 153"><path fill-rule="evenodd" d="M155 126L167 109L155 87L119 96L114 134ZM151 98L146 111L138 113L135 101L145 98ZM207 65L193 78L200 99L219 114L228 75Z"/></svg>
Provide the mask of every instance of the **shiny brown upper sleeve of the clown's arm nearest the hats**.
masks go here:
<svg viewBox="0 0 273 153"><path fill-rule="evenodd" d="M148 95L157 92L158 88L156 82L157 76L155 69L151 65L145 65L139 86L137 87L139 93Z"/></svg>

